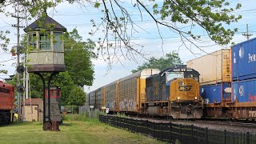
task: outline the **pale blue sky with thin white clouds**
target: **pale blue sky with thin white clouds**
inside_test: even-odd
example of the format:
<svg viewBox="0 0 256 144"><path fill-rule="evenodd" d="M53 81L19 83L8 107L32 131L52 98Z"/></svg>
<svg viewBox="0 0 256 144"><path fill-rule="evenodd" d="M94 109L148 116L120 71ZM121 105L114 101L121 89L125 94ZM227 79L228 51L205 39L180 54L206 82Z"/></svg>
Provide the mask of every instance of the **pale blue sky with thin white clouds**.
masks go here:
<svg viewBox="0 0 256 144"><path fill-rule="evenodd" d="M158 2L161 3L162 1ZM254 15L256 12L255 1L233 0L230 3L232 6L234 6L234 4L237 2L242 4L242 8L235 11L234 14L242 14L242 19L238 23L226 26L227 28L238 27L238 33L234 35L234 39L232 40L234 43L246 41L246 38L242 36L242 32L246 31L246 24L249 24L250 33L254 34L251 38L256 37L256 22L254 20L256 17ZM160 35L158 34L158 27L155 25L150 16L146 14L146 12L142 12L143 19L141 19L138 9L131 6L130 1L126 1L126 3L127 4L124 6L130 12L131 18L133 18L134 22L137 24L136 30L138 30L138 33L133 33L134 37L132 38L132 42L137 43L140 46L134 46L134 48L142 50L142 53L146 54L146 58L160 58L175 50L178 52L182 62L186 63L187 61L201 57L206 53L230 47L230 45L215 45L215 43L211 42L209 38L202 37L203 42L197 44L199 46L205 46L202 47L203 51L191 46L188 42L186 42L186 45L188 46L188 48L186 48L186 46L182 45L182 41L179 36L166 29L164 26L159 26L159 31L162 35L161 39ZM148 5L151 7L150 3L148 3ZM10 10L10 12L12 11L11 7L7 9ZM118 10L116 12L118 14ZM95 30L90 22L91 19L94 19L94 22L96 22L98 25L103 17L99 10L90 5L82 7L76 3L69 4L68 2L63 2L54 9L47 10L47 14L54 18L57 22L61 23L62 26L65 26L68 31L76 28L78 33L85 41L87 38L90 38L94 42L97 42L98 38L103 38L104 33L102 30L98 30L98 32L96 32L93 36L89 34L90 30ZM25 22L25 20L22 20L22 25L27 26L27 24L34 22L34 20L35 19L30 22ZM8 37L10 38L10 44L8 45L9 49L12 46L15 46L17 42L17 30L14 27L11 27L11 25L15 24L16 22L17 20L15 18L6 18L5 15L0 14L0 30L10 30L10 34L8 34ZM195 27L193 32L201 35L206 34L204 30L199 29L198 27ZM23 30L21 30L21 34L24 34ZM194 54L192 54L190 51L193 51ZM91 90L96 90L110 82L114 82L118 78L126 77L127 75L131 74L131 70L136 69L138 66L142 65L143 62L146 62L146 59L142 58L138 54L134 55L134 57L136 61L121 57L120 62L115 61L111 67L111 70L107 70L108 66L106 62L104 62L102 56L99 55L98 59L93 60L95 71L93 86L85 86L84 90L86 92L90 92ZM15 73L15 62L16 58L12 57L10 52L6 53L0 50L0 70L8 70L8 74L0 74L0 79L9 78L9 75Z"/></svg>

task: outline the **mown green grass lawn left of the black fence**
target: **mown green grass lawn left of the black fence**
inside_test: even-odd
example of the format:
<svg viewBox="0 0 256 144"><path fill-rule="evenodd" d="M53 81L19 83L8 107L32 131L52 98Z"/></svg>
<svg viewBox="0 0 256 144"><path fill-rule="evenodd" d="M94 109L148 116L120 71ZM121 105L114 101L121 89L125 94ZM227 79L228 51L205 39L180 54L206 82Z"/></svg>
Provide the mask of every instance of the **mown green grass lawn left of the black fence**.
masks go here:
<svg viewBox="0 0 256 144"><path fill-rule="evenodd" d="M0 143L162 143L95 119L66 116L59 132L43 131L42 122L14 123L0 127Z"/></svg>

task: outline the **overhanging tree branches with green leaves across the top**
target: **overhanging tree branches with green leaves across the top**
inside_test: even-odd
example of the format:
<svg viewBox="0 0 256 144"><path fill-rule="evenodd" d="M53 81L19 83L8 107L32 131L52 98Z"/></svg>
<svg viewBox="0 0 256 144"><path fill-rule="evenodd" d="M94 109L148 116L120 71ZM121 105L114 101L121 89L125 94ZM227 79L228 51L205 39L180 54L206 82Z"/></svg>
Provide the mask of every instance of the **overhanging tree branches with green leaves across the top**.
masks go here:
<svg viewBox="0 0 256 144"><path fill-rule="evenodd" d="M122 54L125 58L134 59L134 54L140 54L142 57L142 51L134 48L132 42L133 34L138 33L138 29L142 29L136 26L134 19L130 16L130 11L126 9L127 5L134 6L140 11L142 18L142 12L146 12L150 18L155 22L156 26L166 26L171 31L177 33L184 46L186 42L190 42L193 46L202 50L195 42L202 42L202 34L194 33L193 28L200 27L206 31L206 36L212 41L220 45L226 45L230 42L234 36L233 30L227 28L232 22L238 22L242 18L241 15L235 16L234 11L241 7L241 4L230 7L230 2L225 0L165 0L162 2L154 0L135 0L130 3L120 0L67 0L70 3L77 2L81 7L87 8L88 5L93 6L102 13L102 22L99 26L96 25L94 20L91 20L95 30L90 34L94 34L95 31L101 30L105 35L103 38L99 38L98 53L102 54L108 65L114 58L120 58L118 54ZM10 6L14 2L19 2L23 10L28 10L30 17L36 17L38 15L44 15L43 12L46 8L55 7L61 0L1 0L0 11L8 14L5 11L6 6ZM22 10L22 9L19 9ZM24 12L23 11L23 12ZM24 12L25 13L25 12ZM27 16L27 15L26 15ZM184 27L190 27L184 29ZM158 28L158 34L162 38L161 32ZM110 42L110 39L114 39L115 42ZM204 50L202 50L204 51ZM193 51L191 51L193 53Z"/></svg>

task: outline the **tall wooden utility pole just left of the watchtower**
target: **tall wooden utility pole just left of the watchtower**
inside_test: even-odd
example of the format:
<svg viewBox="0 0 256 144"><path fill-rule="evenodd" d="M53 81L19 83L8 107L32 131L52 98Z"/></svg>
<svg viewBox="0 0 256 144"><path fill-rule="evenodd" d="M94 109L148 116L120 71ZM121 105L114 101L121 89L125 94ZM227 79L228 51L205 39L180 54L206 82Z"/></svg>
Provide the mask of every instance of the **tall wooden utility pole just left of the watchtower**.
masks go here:
<svg viewBox="0 0 256 144"><path fill-rule="evenodd" d="M19 9L19 7L18 7ZM18 11L19 13L19 11ZM19 34L19 28L20 27L24 27L24 26L19 26L19 22L20 22L20 18L22 17L19 17L18 16L18 13L17 15L12 15L13 18L17 18L17 25L12 25L13 27L17 27L17 67L19 66L19 53L20 53L20 46L19 46L19 37L20 37L20 34ZM19 73L17 72L17 87L20 86L20 78L19 78ZM18 122L21 121L21 94L18 93Z"/></svg>

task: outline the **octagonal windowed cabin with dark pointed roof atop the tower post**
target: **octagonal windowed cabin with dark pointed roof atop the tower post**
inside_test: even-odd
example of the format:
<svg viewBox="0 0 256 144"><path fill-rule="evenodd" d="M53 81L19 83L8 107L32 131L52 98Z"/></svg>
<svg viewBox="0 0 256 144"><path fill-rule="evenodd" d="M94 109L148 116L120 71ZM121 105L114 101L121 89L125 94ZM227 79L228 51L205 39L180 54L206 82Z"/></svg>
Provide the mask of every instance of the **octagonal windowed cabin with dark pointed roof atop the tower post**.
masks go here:
<svg viewBox="0 0 256 144"><path fill-rule="evenodd" d="M30 52L28 72L62 72L64 63L63 33L66 28L47 14L27 26L27 44Z"/></svg>

